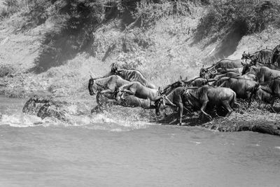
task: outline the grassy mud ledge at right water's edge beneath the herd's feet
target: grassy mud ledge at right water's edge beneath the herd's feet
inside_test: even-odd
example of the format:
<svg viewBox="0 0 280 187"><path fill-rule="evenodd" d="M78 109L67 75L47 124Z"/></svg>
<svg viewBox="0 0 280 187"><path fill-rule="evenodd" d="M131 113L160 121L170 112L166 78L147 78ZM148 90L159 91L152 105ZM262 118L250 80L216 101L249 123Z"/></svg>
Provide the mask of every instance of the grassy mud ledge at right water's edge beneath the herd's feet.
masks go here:
<svg viewBox="0 0 280 187"><path fill-rule="evenodd" d="M182 122L184 126L200 126L209 130L218 130L220 132L240 132L253 131L265 134L280 135L280 114L271 113L265 105L260 105L258 102L253 102L248 109L241 107L238 111L233 111L228 117L219 117L211 114L213 120L203 118L200 113L195 112L185 114ZM279 106L276 106L276 111L279 111ZM156 123L177 125L176 118L178 113L169 114L167 117L158 120Z"/></svg>

